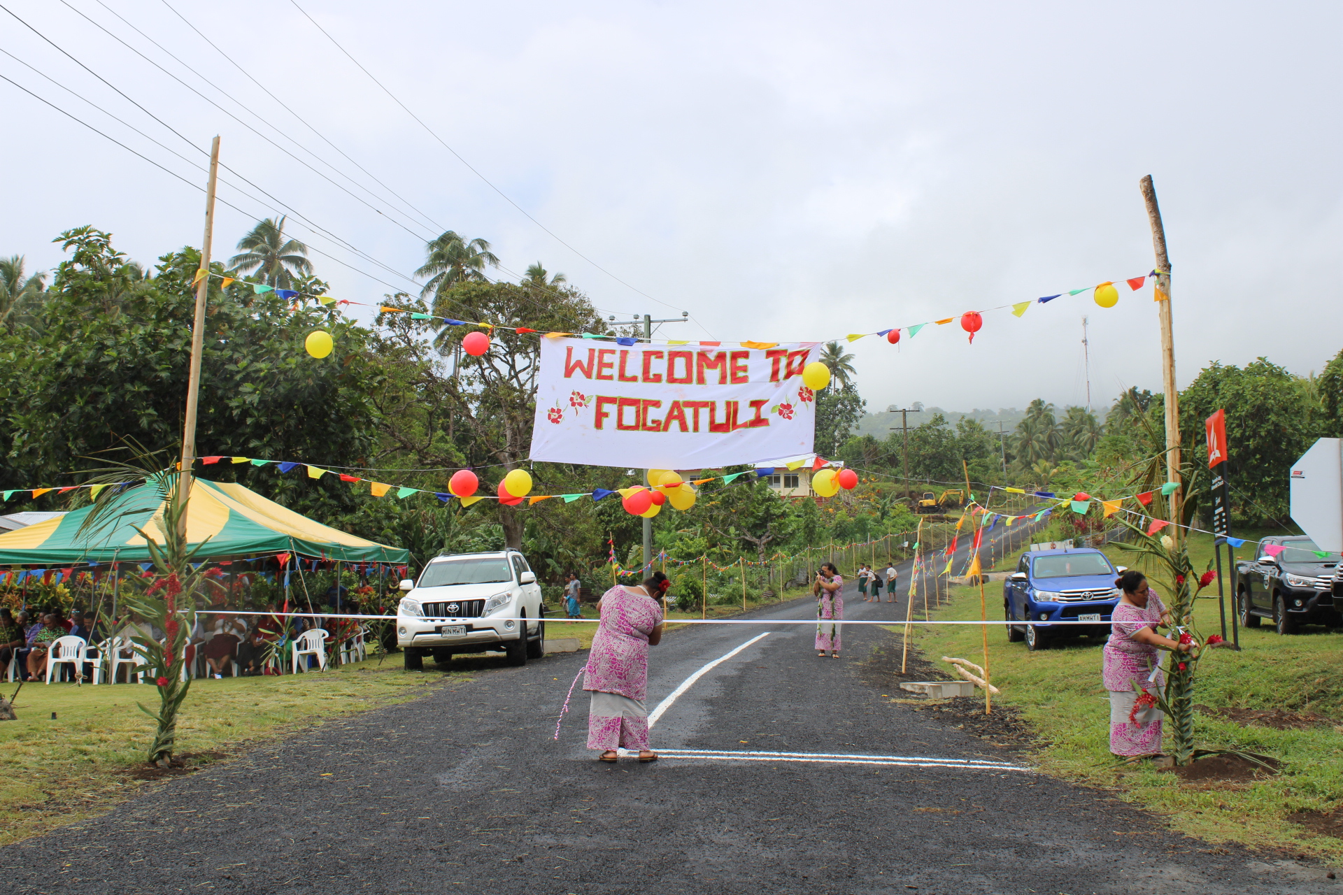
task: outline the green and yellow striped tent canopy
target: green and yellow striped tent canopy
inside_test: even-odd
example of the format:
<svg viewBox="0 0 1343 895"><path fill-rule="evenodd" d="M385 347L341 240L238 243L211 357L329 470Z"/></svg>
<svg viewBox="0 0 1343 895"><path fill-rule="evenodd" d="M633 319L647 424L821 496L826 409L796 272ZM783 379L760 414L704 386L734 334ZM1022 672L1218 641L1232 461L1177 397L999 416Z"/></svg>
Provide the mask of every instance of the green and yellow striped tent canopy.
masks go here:
<svg viewBox="0 0 1343 895"><path fill-rule="evenodd" d="M101 522L81 534L91 506L54 519L0 534L0 565L58 565L146 561L145 538L163 543L164 498L153 484L128 488L111 498ZM207 539L208 538L208 539ZM187 539L205 542L196 560L258 554L298 556L349 562L410 561L410 551L356 538L267 501L232 482L195 479L187 510Z"/></svg>

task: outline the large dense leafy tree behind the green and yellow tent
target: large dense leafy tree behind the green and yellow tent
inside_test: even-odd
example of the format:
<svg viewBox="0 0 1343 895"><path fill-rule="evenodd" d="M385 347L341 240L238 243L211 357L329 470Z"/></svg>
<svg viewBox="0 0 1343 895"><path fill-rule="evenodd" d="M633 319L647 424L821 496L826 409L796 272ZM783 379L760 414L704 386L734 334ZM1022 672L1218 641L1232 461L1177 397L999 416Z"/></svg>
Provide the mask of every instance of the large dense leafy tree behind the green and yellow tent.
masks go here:
<svg viewBox="0 0 1343 895"><path fill-rule="evenodd" d="M199 252L164 255L152 275L134 279L107 233L81 228L63 238L73 256L47 291L46 331L0 334L0 479L8 487L68 482L71 471L89 468L83 458L125 437L154 447L181 441ZM363 466L376 436L369 396L379 385L368 333L336 311L295 313L265 295L244 306L240 294L252 298L250 288L220 290L211 280L199 454ZM336 341L324 360L304 350L318 326ZM340 482L297 483L274 467L207 468L208 478L236 476L332 523L357 503Z"/></svg>

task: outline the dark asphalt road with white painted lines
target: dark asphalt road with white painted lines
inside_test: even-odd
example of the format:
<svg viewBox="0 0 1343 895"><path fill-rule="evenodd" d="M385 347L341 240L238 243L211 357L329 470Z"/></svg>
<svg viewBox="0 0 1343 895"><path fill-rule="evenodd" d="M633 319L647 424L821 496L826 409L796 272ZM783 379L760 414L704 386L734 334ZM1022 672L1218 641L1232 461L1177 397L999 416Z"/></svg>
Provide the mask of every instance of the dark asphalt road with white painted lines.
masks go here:
<svg viewBox="0 0 1343 895"><path fill-rule="evenodd" d="M902 617L902 602L849 619ZM893 612L898 615L893 615ZM808 600L751 616L806 619ZM756 639L759 635L763 637ZM1323 871L1213 849L1037 774L1029 759L882 698L860 674L892 635L696 625L651 652L655 764L594 761L586 653L325 723L7 849L15 892L1336 892ZM426 674L435 674L432 671ZM751 754L787 753L787 754ZM866 758L854 758L866 757Z"/></svg>

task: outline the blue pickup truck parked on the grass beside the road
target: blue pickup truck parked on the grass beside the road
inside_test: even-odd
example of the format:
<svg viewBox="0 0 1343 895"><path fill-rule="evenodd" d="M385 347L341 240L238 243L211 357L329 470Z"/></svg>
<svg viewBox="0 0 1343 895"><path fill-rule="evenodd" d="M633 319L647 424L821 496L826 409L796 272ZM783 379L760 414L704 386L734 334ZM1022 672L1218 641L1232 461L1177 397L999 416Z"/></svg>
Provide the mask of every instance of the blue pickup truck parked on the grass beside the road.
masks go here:
<svg viewBox="0 0 1343 895"><path fill-rule="evenodd" d="M1119 604L1115 578L1124 566L1092 547L1030 550L1003 584L1007 621L1095 621L1096 625L1007 625L1007 640L1026 641L1034 652L1056 637L1109 635L1109 616Z"/></svg>

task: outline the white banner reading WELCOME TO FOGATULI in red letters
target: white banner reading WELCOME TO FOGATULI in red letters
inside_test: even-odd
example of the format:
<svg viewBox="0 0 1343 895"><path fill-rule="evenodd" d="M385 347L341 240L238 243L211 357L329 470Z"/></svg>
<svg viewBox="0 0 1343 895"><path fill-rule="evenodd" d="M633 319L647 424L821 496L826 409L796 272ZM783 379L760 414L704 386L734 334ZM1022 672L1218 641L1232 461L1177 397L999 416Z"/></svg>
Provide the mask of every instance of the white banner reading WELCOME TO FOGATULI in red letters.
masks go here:
<svg viewBox="0 0 1343 895"><path fill-rule="evenodd" d="M543 338L532 459L700 470L810 454L817 344L729 345Z"/></svg>

